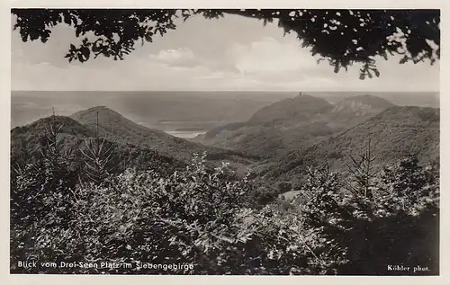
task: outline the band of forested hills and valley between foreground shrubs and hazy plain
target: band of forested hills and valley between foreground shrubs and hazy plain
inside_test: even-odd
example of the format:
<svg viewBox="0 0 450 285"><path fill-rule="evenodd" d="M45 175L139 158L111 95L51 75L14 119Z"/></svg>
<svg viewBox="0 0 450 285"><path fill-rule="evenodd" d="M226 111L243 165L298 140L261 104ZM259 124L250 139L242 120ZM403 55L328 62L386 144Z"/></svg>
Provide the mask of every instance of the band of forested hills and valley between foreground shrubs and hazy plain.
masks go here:
<svg viewBox="0 0 450 285"><path fill-rule="evenodd" d="M96 134L117 149L131 148L132 156L152 152L179 165L193 154L206 153L213 165L229 163L241 175L251 170L269 185L280 181L300 185L307 166L329 165L345 172L349 156L363 151L368 138L379 154L377 165L408 154L418 155L425 163L439 158L437 108L399 106L371 94L333 102L301 93L267 103L246 116L247 120L223 124L218 120L157 120L155 126L164 127L154 129L106 106L96 106L56 120L65 125L69 147L80 146L83 139ZM50 117L12 129L12 156L36 152L43 121ZM118 152L121 156L127 153ZM132 160L127 160L130 165Z"/></svg>

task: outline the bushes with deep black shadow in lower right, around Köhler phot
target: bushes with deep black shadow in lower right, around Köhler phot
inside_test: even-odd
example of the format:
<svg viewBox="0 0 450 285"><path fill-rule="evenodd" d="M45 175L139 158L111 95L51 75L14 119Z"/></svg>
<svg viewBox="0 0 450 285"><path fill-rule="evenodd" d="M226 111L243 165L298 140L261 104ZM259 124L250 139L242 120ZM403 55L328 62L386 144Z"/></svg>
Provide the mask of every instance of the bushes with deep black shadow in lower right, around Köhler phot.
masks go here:
<svg viewBox="0 0 450 285"><path fill-rule="evenodd" d="M310 170L297 203L305 227L323 240L313 250L339 274L414 274L390 272L388 264L420 265L428 270L416 274L438 274L438 177L436 167L423 168L411 156L384 169L371 197L360 194L366 185L342 191L338 174ZM361 176L353 179L357 184Z"/></svg>

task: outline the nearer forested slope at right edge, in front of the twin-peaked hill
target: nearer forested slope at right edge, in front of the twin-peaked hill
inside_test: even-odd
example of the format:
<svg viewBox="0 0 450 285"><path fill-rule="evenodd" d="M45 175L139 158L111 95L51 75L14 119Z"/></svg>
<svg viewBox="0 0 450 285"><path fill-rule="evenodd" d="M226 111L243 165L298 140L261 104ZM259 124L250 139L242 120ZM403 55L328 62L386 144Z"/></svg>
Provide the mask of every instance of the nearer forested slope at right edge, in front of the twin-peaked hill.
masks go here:
<svg viewBox="0 0 450 285"><path fill-rule="evenodd" d="M349 156L364 152L369 138L375 165L394 163L409 155L419 156L423 163L438 161L439 109L389 108L311 147L274 160L266 165L266 177L300 177L310 165L328 164L332 169L345 171Z"/></svg>

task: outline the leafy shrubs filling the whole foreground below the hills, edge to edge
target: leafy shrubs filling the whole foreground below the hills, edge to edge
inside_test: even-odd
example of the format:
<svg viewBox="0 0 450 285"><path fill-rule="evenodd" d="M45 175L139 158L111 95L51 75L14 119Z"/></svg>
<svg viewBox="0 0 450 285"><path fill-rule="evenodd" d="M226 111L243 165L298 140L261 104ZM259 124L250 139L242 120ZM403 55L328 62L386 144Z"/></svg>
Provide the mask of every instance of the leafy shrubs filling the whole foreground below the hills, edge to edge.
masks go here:
<svg viewBox="0 0 450 285"><path fill-rule="evenodd" d="M310 169L308 177L296 200L262 209L247 202L255 187L251 176L239 179L227 165L209 169L204 155L182 172L129 169L100 185L78 185L70 196L43 192L53 206L70 210L23 212L38 210L41 218L29 227L12 224L12 272L43 270L14 268L22 259L193 263L192 271L179 267L174 274L389 275L395 273L386 271L391 263L437 273L436 168L420 167L415 157L386 168L373 200L346 191L328 170ZM45 271L165 273L136 267Z"/></svg>

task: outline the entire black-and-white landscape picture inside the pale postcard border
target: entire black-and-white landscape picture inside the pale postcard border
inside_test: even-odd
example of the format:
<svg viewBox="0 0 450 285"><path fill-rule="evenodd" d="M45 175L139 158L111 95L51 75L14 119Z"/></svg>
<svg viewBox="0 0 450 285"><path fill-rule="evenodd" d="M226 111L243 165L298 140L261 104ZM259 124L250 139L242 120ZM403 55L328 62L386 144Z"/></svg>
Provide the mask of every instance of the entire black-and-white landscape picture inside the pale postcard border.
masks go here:
<svg viewBox="0 0 450 285"><path fill-rule="evenodd" d="M440 18L11 9L10 274L439 276Z"/></svg>

